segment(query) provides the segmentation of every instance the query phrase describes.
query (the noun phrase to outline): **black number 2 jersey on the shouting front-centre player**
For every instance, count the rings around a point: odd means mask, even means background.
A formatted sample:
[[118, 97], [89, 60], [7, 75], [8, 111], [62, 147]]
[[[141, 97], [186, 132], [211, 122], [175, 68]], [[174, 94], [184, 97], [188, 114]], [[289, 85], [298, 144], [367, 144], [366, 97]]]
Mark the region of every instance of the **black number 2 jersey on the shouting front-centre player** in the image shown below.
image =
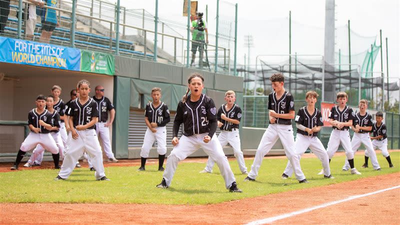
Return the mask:
[[187, 96], [186, 102], [180, 101], [176, 108], [172, 129], [173, 137], [177, 137], [181, 123], [183, 123], [182, 133], [184, 136], [208, 133], [208, 136], [212, 138], [216, 131], [217, 123], [214, 101], [210, 97], [201, 94], [198, 101], [191, 102], [190, 95]]

